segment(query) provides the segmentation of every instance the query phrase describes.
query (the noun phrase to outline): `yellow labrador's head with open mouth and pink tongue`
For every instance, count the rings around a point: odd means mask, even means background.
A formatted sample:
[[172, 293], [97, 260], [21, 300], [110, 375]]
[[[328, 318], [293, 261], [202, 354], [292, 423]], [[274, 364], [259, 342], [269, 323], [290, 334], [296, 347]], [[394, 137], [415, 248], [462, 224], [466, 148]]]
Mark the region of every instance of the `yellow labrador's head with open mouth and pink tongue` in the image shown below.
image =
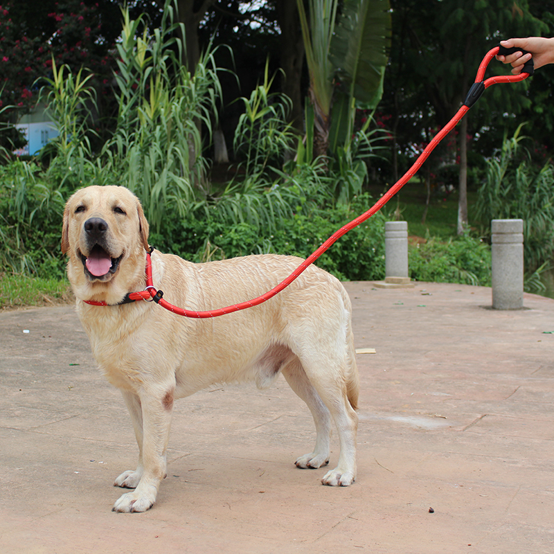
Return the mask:
[[122, 186], [78, 190], [64, 211], [62, 252], [80, 300], [115, 304], [144, 288], [148, 222], [139, 199]]

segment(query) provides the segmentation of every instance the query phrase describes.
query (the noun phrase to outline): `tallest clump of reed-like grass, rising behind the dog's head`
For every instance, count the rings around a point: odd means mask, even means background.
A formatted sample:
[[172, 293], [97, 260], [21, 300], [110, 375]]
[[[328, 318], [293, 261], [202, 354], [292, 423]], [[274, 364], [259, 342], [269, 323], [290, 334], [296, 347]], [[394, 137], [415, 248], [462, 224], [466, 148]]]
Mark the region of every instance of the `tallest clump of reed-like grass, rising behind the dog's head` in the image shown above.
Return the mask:
[[211, 139], [222, 90], [210, 48], [194, 75], [182, 64], [179, 31], [184, 36], [184, 30], [173, 22], [170, 1], [151, 36], [140, 18], [131, 20], [127, 8], [122, 12], [118, 124], [102, 150], [102, 163], [141, 198], [152, 228], [159, 231], [168, 213], [185, 217], [202, 192], [203, 139]]

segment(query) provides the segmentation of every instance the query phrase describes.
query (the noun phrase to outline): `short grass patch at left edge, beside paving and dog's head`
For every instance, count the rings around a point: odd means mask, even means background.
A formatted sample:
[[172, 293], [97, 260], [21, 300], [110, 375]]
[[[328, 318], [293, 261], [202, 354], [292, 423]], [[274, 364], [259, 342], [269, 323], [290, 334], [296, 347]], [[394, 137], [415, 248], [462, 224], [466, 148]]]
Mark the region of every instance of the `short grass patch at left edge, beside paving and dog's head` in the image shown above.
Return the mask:
[[24, 275], [0, 276], [0, 310], [26, 306], [53, 306], [73, 299], [69, 281]]

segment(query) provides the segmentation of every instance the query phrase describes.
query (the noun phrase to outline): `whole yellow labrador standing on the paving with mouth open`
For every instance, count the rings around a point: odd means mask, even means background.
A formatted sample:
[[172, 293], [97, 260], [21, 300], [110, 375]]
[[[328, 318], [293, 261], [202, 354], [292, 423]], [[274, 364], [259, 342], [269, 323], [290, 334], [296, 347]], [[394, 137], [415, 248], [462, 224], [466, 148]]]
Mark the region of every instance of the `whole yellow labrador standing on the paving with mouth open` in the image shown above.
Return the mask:
[[[127, 293], [145, 288], [147, 249], [148, 222], [127, 188], [89, 186], [67, 202], [62, 251], [69, 256], [77, 312], [96, 361], [123, 394], [139, 443], [136, 470], [114, 483], [134, 491], [123, 494], [114, 511], [144, 512], [156, 501], [176, 398], [222, 382], [253, 380], [266, 388], [279, 373], [306, 402], [316, 426], [314, 451], [296, 465], [328, 464], [334, 420], [341, 452], [322, 482], [352, 484], [359, 379], [350, 301], [341, 283], [312, 265], [261, 305], [187, 319], [154, 302], [120, 304]], [[300, 262], [264, 255], [193, 264], [154, 250], [153, 283], [174, 305], [214, 310], [267, 292]]]

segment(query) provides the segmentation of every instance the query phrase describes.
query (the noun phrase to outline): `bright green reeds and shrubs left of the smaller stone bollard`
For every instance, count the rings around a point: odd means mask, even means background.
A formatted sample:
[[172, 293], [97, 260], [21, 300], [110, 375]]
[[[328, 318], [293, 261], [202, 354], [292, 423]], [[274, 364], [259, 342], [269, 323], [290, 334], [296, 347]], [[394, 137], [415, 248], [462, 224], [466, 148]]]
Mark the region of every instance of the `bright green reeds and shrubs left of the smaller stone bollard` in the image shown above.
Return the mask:
[[[207, 181], [202, 145], [221, 96], [219, 71], [209, 50], [195, 75], [179, 62], [169, 6], [153, 36], [141, 19], [123, 12], [116, 75], [120, 113], [114, 136], [100, 152], [90, 141], [95, 99], [89, 77], [53, 64], [43, 93], [60, 132], [48, 146], [50, 163], [15, 161], [0, 169], [2, 271], [62, 276], [64, 201], [87, 184], [129, 186], [143, 202], [152, 244], [195, 261], [270, 251], [305, 258], [368, 208], [367, 195], [336, 202], [343, 181], [340, 174], [323, 172], [321, 160], [284, 163], [297, 139], [286, 123], [286, 101], [269, 93], [267, 72], [250, 98], [242, 99], [244, 116], [235, 134], [244, 160], [240, 179], [222, 190]], [[370, 148], [363, 152], [373, 155]], [[364, 163], [356, 156], [350, 162]], [[359, 226], [319, 265], [341, 278], [382, 277], [383, 221], [377, 215]]]

